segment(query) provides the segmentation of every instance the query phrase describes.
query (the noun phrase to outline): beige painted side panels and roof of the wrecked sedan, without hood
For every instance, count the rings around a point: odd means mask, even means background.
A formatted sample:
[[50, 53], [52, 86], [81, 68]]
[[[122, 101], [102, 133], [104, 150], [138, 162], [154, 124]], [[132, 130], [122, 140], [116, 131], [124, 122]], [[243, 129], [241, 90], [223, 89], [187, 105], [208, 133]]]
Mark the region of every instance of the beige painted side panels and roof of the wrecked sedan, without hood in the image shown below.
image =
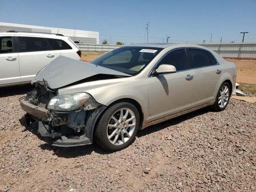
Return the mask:
[[[87, 92], [97, 102], [106, 106], [116, 100], [133, 99], [140, 104], [144, 116], [143, 124], [147, 124], [185, 110], [190, 112], [191, 108], [200, 108], [202, 104], [204, 104], [203, 106], [212, 104], [218, 88], [225, 80], [232, 82], [232, 90], [234, 90], [236, 66], [208, 48], [190, 44], [137, 44], [131, 46], [164, 47], [164, 50], [136, 76], [76, 84], [59, 89], [58, 94]], [[164, 74], [158, 77], [150, 76], [158, 60], [170, 50], [177, 48], [208, 50], [218, 60], [218, 65]], [[217, 69], [222, 71], [221, 74], [216, 74]], [[185, 80], [188, 74], [194, 75], [190, 81]], [[205, 76], [207, 79], [204, 78]]]

